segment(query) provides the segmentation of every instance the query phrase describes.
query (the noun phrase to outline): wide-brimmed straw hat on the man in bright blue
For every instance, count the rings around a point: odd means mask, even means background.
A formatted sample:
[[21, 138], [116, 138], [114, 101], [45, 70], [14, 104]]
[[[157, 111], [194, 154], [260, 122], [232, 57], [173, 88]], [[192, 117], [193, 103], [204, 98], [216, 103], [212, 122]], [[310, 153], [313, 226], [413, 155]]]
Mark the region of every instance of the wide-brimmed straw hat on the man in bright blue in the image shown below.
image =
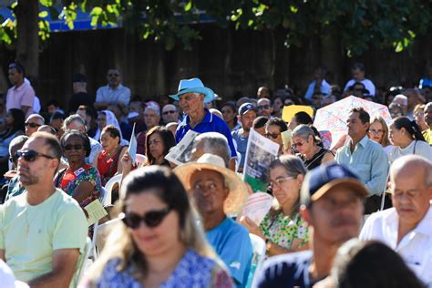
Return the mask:
[[225, 168], [225, 162], [221, 157], [206, 153], [197, 162], [182, 164], [174, 173], [183, 183], [184, 188], [190, 191], [190, 177], [197, 170], [213, 170], [221, 173], [228, 185], [228, 197], [223, 203], [223, 211], [227, 215], [237, 215], [248, 199], [248, 189], [242, 179], [233, 171]]

